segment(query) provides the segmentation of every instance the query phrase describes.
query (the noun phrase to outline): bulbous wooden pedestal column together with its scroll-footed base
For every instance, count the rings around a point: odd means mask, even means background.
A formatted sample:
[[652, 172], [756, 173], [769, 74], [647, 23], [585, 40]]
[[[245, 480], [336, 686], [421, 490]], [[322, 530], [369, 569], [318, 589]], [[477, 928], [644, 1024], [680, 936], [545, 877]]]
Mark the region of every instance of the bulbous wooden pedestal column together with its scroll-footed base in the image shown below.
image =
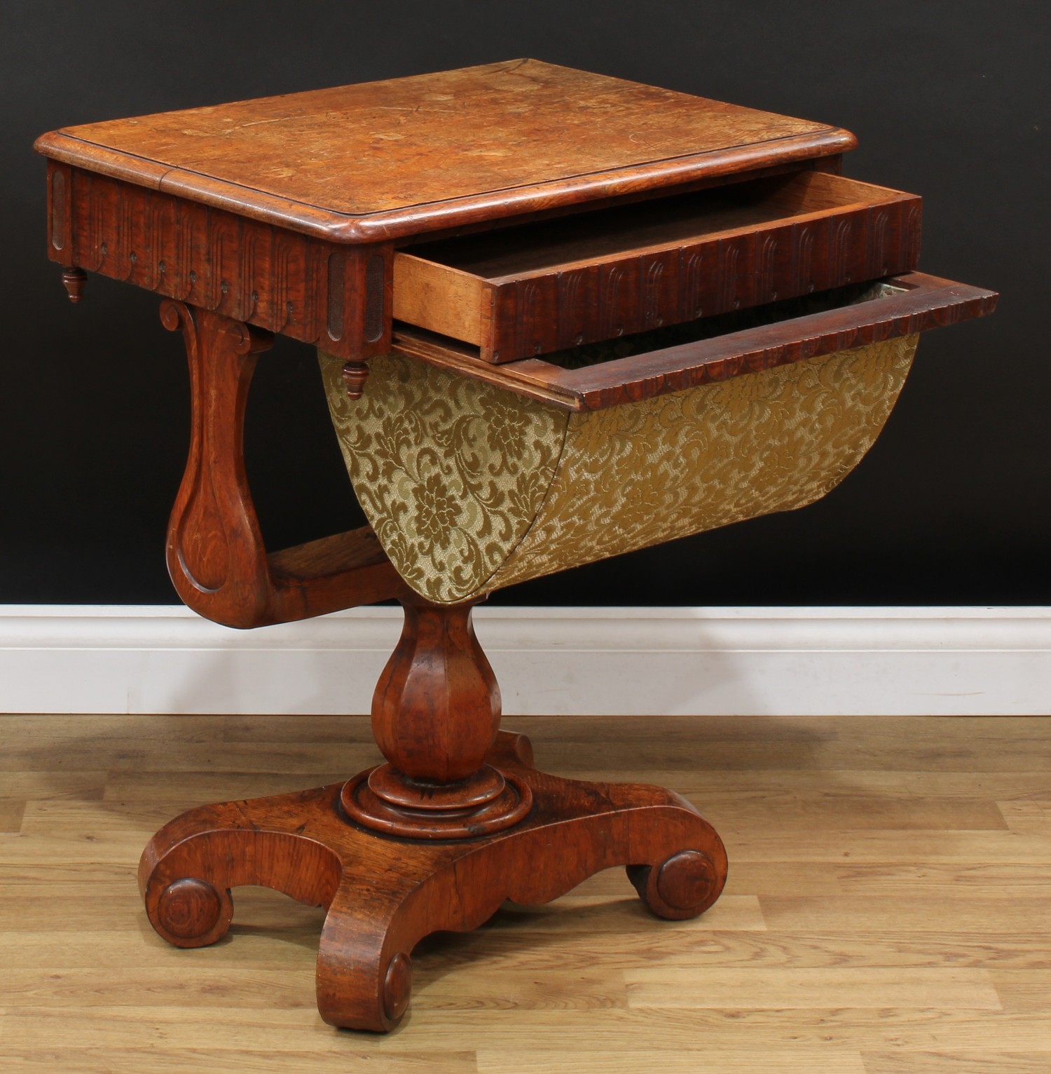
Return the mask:
[[696, 916], [722, 890], [722, 842], [684, 799], [548, 775], [524, 736], [496, 730], [499, 692], [469, 607], [407, 605], [373, 714], [386, 765], [344, 784], [191, 810], [157, 833], [140, 884], [160, 935], [179, 947], [214, 943], [240, 884], [325, 906], [321, 1015], [384, 1031], [408, 1005], [415, 944], [477, 928], [506, 899], [549, 902], [618, 865], [660, 917]]

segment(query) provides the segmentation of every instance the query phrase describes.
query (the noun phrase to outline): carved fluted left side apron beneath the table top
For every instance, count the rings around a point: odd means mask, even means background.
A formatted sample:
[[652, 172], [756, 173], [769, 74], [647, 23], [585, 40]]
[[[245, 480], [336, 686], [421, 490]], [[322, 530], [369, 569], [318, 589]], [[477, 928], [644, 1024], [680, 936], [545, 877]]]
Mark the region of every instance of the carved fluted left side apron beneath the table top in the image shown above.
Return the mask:
[[52, 260], [341, 358], [390, 350], [392, 248], [334, 246], [54, 161], [48, 174]]

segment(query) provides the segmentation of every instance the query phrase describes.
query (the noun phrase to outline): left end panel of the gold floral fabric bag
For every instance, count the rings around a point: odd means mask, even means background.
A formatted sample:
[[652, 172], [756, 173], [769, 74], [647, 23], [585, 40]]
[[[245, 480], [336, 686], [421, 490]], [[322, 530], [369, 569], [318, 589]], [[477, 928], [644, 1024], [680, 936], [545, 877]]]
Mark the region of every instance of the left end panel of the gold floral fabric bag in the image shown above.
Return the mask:
[[568, 415], [398, 354], [369, 360], [354, 402], [342, 362], [320, 358], [350, 479], [391, 562], [436, 603], [479, 592], [536, 518]]

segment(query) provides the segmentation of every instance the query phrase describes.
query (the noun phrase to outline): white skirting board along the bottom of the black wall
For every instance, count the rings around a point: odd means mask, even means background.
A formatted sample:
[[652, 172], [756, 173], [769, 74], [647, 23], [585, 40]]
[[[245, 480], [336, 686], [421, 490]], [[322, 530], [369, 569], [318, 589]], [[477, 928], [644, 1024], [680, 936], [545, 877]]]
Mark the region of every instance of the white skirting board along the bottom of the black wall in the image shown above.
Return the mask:
[[[0, 712], [367, 713], [399, 608], [231, 630], [176, 606], [0, 606]], [[475, 612], [513, 715], [1036, 715], [1051, 608]]]

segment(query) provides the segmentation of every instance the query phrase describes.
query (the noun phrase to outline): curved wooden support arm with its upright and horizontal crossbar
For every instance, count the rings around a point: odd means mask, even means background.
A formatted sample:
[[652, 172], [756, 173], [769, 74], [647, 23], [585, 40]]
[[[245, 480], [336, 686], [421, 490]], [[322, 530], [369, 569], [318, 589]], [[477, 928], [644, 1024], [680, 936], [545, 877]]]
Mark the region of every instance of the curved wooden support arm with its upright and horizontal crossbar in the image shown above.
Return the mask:
[[367, 527], [268, 555], [245, 470], [248, 388], [268, 332], [174, 300], [161, 321], [183, 330], [192, 417], [186, 473], [167, 529], [181, 599], [225, 626], [321, 615], [408, 592]]

